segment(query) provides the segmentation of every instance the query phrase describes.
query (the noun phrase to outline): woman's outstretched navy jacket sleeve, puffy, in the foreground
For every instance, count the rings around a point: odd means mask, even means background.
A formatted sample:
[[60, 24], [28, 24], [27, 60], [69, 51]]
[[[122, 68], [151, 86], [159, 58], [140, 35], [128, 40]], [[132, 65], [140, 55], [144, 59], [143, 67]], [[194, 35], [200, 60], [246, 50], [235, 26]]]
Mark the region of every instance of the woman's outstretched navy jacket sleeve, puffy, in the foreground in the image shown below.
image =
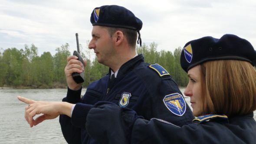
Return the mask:
[[221, 144], [235, 141], [223, 124], [170, 122], [138, 116], [129, 108], [101, 104], [89, 111], [86, 130], [102, 144]]

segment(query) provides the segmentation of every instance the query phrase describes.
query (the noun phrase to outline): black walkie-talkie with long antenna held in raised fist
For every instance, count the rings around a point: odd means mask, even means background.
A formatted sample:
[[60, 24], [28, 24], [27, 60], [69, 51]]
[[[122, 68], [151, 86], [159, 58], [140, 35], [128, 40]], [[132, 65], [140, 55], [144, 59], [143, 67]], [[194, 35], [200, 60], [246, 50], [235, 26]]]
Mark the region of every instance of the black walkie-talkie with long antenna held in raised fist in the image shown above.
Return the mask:
[[[78, 41], [78, 33], [75, 33], [75, 37], [76, 37], [76, 45], [77, 45], [77, 51], [74, 51], [74, 53], [73, 53], [73, 56], [77, 56], [78, 57], [78, 60], [80, 61], [80, 62], [82, 62], [82, 64], [83, 64], [83, 68], [84, 68], [84, 61], [83, 61], [83, 59], [82, 59], [82, 57], [80, 56], [80, 49], [79, 49], [79, 41]], [[74, 73], [72, 73], [72, 77], [73, 77], [73, 79], [74, 79], [74, 81], [76, 82], [76, 83], [82, 83], [82, 82], [84, 82], [85, 80], [84, 80], [84, 77], [85, 77], [85, 72], [83, 71], [82, 73], [78, 73], [78, 72], [74, 72]]]

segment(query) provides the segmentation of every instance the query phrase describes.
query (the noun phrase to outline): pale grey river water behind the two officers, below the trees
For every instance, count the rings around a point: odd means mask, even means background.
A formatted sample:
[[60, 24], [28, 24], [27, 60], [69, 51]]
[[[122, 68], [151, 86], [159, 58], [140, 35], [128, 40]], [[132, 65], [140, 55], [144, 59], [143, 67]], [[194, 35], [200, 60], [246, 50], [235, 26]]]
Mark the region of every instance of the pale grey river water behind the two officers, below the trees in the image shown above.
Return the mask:
[[[66, 144], [59, 117], [30, 128], [24, 118], [26, 104], [17, 99], [20, 95], [39, 101], [61, 101], [66, 92], [66, 89], [0, 89], [0, 144]], [[185, 100], [190, 105], [190, 98]]]

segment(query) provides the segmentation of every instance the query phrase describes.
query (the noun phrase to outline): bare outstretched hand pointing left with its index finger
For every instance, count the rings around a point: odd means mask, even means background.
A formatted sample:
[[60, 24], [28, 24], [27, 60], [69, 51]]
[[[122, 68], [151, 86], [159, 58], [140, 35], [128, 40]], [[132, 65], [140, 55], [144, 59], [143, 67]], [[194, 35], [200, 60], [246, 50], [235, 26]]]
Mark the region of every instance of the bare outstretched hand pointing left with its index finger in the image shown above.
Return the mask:
[[[52, 102], [52, 101], [34, 101], [32, 99], [17, 97], [20, 101], [28, 104], [25, 107], [25, 119], [30, 124], [30, 127], [41, 123], [44, 120], [57, 118], [59, 115], [68, 115], [71, 117], [71, 109], [73, 104], [67, 102]], [[35, 115], [43, 114], [37, 117]]]

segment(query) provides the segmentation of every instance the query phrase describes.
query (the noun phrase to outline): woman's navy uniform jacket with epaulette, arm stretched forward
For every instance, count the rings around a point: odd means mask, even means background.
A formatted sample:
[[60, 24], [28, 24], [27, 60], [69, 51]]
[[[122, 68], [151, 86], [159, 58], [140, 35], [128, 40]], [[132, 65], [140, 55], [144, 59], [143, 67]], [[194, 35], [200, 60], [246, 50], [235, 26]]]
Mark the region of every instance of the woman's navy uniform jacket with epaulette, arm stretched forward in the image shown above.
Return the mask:
[[253, 113], [227, 118], [204, 115], [182, 127], [161, 119], [150, 121], [115, 104], [98, 103], [87, 115], [86, 129], [102, 144], [255, 144]]

